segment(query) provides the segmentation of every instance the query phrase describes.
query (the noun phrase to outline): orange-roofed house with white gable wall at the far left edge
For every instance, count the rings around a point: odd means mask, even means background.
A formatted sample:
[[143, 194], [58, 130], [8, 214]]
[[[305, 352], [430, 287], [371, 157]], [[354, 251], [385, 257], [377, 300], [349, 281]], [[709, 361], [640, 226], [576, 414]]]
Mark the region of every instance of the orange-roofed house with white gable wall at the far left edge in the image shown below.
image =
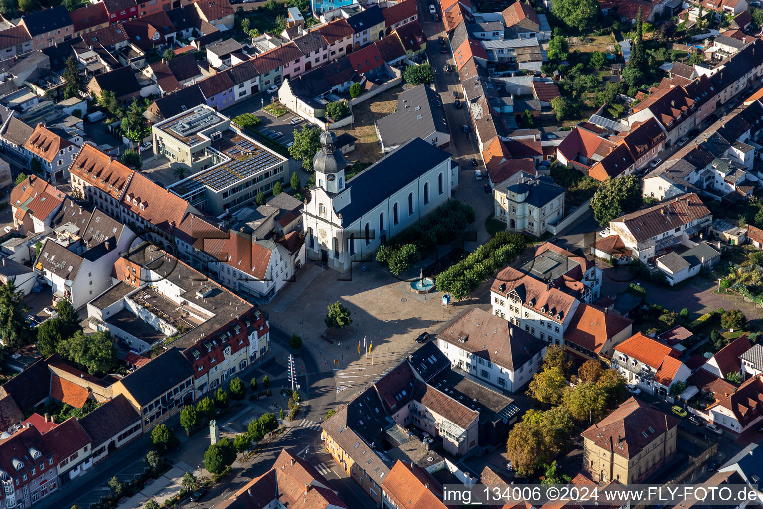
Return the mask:
[[31, 175], [11, 191], [13, 225], [22, 235], [41, 234], [50, 227], [66, 195]]

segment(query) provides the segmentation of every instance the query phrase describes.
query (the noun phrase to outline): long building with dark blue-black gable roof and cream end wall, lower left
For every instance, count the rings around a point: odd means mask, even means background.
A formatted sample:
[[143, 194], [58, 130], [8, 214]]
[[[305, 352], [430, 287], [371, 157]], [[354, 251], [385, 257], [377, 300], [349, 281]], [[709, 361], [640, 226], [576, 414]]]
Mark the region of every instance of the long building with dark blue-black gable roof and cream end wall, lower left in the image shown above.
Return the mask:
[[111, 385], [114, 397], [124, 395], [140, 414], [148, 433], [194, 401], [193, 370], [181, 350], [170, 346], [162, 355]]

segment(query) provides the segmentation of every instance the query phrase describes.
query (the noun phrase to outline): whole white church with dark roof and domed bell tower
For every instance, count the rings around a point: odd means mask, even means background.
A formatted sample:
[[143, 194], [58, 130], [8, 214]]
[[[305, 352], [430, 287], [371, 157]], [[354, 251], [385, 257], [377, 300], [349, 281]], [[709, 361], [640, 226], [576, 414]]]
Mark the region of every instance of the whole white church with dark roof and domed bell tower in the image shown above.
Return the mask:
[[320, 136], [315, 155], [316, 186], [302, 209], [308, 258], [339, 272], [367, 261], [387, 240], [450, 198], [459, 166], [450, 154], [420, 138], [407, 141], [345, 179], [346, 159], [336, 134]]

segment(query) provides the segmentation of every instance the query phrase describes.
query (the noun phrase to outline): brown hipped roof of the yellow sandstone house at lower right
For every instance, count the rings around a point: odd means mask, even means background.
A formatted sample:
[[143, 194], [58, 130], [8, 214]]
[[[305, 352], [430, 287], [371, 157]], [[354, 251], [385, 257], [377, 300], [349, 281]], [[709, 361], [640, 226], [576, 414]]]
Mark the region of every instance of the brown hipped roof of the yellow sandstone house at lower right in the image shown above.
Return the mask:
[[678, 419], [650, 408], [645, 401], [630, 398], [581, 435], [618, 456], [633, 458], [677, 425]]

